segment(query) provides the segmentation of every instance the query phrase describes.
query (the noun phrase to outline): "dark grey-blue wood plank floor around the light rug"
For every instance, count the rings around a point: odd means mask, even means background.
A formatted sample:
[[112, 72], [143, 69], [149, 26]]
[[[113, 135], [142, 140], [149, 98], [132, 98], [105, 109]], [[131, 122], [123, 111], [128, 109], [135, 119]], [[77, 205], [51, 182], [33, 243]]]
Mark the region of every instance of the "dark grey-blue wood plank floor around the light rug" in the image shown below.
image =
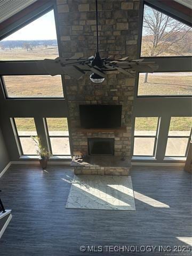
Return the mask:
[[[64, 166], [42, 171], [38, 166], [12, 165], [6, 171], [0, 179], [1, 197], [13, 218], [0, 239], [1, 256], [94, 255], [80, 252], [81, 245], [188, 245], [191, 175], [181, 167], [134, 166], [135, 212], [66, 209], [73, 175]], [[106, 250], [100, 254], [191, 255]]]

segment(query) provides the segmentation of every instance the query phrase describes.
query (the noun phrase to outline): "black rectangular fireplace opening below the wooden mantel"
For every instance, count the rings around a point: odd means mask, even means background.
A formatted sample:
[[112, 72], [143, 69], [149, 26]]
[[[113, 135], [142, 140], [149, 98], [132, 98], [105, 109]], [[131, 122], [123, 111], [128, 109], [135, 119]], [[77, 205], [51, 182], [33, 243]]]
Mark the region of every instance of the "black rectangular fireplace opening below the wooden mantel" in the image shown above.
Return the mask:
[[113, 138], [88, 138], [89, 155], [114, 155]]

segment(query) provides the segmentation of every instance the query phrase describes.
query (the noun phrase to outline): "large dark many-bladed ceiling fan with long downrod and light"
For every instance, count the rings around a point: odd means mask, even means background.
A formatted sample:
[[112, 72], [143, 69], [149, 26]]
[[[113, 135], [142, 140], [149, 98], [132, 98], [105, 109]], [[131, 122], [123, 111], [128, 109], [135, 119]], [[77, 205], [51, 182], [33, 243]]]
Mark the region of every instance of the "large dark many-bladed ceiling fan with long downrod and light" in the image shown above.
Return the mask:
[[66, 59], [58, 57], [54, 60], [44, 59], [37, 62], [37, 66], [46, 70], [51, 76], [66, 74], [72, 78], [79, 79], [85, 73], [92, 72], [90, 79], [94, 83], [101, 83], [105, 80], [108, 71], [117, 70], [125, 75], [134, 77], [132, 72], [139, 71], [153, 73], [158, 65], [152, 61], [143, 61], [144, 59], [129, 60], [125, 57], [119, 60], [110, 57], [101, 58], [99, 54], [99, 37], [98, 37], [98, 1], [95, 0], [96, 7], [96, 32], [97, 32], [97, 52], [95, 56], [89, 58], [71, 58]]

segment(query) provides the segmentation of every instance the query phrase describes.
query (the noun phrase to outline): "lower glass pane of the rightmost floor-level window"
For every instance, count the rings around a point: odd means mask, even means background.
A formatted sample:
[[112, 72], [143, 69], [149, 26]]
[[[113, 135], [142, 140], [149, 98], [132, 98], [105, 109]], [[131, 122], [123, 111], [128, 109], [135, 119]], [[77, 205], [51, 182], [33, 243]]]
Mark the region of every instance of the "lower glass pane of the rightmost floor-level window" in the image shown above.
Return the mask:
[[165, 156], [185, 156], [188, 138], [168, 138]]

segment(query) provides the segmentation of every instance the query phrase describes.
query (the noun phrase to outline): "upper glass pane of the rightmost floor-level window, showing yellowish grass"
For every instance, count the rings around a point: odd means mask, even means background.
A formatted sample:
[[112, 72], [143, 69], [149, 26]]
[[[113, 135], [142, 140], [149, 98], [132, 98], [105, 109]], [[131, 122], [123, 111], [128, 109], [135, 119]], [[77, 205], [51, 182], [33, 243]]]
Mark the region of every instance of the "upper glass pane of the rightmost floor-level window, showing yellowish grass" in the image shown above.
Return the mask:
[[171, 117], [169, 136], [189, 136], [192, 117]]

